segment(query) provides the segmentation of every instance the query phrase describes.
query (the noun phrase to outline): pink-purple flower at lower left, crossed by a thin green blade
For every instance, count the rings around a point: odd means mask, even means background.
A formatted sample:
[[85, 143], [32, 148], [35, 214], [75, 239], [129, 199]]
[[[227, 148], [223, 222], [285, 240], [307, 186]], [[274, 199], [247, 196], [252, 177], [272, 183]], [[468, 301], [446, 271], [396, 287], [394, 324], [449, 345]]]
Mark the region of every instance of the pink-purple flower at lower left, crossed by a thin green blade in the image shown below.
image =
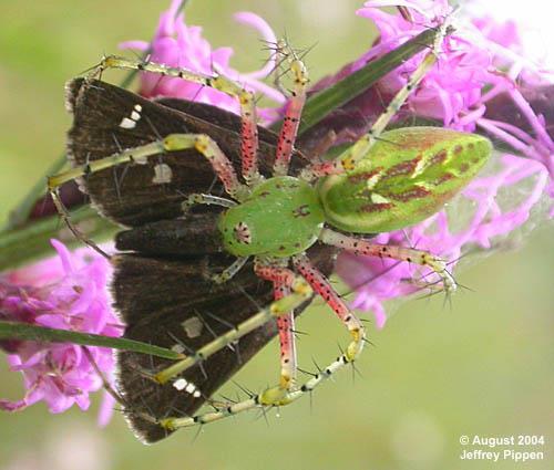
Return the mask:
[[[58, 258], [0, 276], [0, 318], [75, 332], [121, 336], [123, 327], [111, 310], [106, 284], [110, 263], [81, 249], [71, 253], [52, 240]], [[44, 400], [51, 412], [76, 404], [85, 410], [89, 394], [102, 388], [90, 358], [113, 379], [112, 351], [68, 343], [0, 342], [11, 370], [21, 372], [27, 389], [18, 401], [0, 400], [0, 409], [14, 411]], [[105, 395], [109, 397], [109, 395]], [[104, 404], [100, 421], [105, 424], [113, 401]]]

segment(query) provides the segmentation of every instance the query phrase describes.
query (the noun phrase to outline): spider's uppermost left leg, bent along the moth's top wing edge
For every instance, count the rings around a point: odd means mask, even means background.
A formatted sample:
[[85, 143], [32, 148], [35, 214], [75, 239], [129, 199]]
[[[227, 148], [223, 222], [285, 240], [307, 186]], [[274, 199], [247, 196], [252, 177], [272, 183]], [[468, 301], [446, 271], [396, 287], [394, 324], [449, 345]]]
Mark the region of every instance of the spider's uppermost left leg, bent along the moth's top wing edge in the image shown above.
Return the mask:
[[91, 73], [91, 77], [101, 75], [106, 69], [137, 70], [142, 72], [156, 73], [162, 76], [183, 79], [199, 85], [209, 86], [237, 98], [240, 104], [242, 117], [242, 174], [248, 186], [255, 186], [260, 181], [261, 176], [258, 171], [257, 155], [258, 128], [256, 119], [256, 103], [253, 92], [245, 90], [245, 87], [239, 83], [226, 79], [223, 75], [204, 75], [186, 69], [170, 67], [164, 64], [156, 64], [152, 62], [132, 61], [115, 55], [103, 58], [101, 63], [94, 67]]

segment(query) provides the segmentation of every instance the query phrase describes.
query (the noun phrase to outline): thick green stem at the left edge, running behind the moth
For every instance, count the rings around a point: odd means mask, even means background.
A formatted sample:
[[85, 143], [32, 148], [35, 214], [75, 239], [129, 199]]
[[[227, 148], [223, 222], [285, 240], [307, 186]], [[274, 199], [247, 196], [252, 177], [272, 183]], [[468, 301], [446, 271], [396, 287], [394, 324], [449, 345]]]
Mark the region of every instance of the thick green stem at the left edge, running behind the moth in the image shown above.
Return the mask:
[[[117, 231], [117, 227], [100, 217], [90, 207], [74, 211], [71, 220], [93, 240], [106, 240]], [[61, 239], [70, 247], [82, 246], [61, 222], [58, 215], [31, 221], [27, 226], [0, 232], [0, 272], [28, 264], [53, 254], [48, 242], [51, 238]]]

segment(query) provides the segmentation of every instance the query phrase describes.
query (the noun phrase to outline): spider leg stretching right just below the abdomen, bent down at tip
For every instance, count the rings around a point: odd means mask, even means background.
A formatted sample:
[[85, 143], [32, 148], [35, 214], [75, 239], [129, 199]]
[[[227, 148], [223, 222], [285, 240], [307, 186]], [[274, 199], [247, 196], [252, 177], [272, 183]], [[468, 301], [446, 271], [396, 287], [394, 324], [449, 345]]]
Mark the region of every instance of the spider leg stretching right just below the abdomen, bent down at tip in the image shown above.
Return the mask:
[[327, 228], [321, 230], [319, 240], [326, 244], [350, 251], [356, 255], [390, 258], [392, 260], [428, 267], [441, 278], [447, 293], [452, 293], [456, 289], [454, 278], [447, 270], [445, 261], [428, 251], [392, 244], [370, 243], [363, 239], [348, 237]]

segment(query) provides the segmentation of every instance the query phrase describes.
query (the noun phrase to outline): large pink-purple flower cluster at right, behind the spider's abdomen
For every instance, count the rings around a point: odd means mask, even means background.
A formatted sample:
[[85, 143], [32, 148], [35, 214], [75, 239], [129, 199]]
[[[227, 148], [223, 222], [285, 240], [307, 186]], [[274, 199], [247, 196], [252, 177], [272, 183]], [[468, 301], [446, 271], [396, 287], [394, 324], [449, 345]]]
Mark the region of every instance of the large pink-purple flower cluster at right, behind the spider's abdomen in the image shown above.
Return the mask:
[[[377, 7], [403, 7], [412, 21]], [[378, 55], [397, 48], [437, 25], [450, 13], [447, 1], [368, 1], [357, 12], [371, 19], [380, 31], [378, 43], [348, 66], [351, 73]], [[466, 132], [481, 130], [507, 144], [519, 154], [496, 156], [483, 176], [473, 180], [448, 208], [407, 230], [382, 233], [376, 241], [414, 246], [451, 261], [470, 249], [490, 250], [517, 229], [532, 226], [532, 212], [541, 210], [544, 194], [553, 195], [554, 143], [545, 117], [537, 115], [525, 100], [525, 90], [537, 90], [550, 82], [540, 65], [525, 59], [513, 22], [496, 24], [490, 18], [473, 20], [449, 36], [438, 64], [410, 96], [407, 108], [417, 116], [438, 119], [445, 127]], [[378, 84], [392, 96], [403, 86], [421, 61], [421, 54], [389, 73]], [[346, 70], [346, 69], [345, 69]], [[343, 73], [345, 71], [342, 71]], [[504, 98], [504, 109], [495, 107]], [[521, 126], [510, 123], [514, 115]], [[506, 197], [505, 195], [510, 196]], [[420, 291], [423, 283], [437, 281], [425, 270], [342, 253], [337, 263], [339, 275], [356, 291], [355, 307], [371, 310], [381, 327], [386, 321], [383, 302]]]

